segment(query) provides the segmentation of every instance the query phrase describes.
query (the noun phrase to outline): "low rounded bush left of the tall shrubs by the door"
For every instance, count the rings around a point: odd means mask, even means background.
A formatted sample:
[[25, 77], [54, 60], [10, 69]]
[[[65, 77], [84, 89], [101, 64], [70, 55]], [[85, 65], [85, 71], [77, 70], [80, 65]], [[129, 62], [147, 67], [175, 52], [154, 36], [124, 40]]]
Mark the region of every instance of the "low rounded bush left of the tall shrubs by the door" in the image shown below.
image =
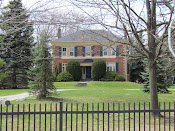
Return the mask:
[[69, 72], [62, 72], [57, 76], [57, 81], [73, 81], [73, 77]]

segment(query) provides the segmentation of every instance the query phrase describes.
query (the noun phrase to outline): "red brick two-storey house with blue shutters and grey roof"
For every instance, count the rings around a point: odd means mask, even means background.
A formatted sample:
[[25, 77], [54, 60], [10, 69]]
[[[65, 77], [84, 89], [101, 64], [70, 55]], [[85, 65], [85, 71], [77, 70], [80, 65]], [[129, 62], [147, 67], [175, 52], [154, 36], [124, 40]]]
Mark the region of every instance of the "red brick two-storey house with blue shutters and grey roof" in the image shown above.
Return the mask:
[[58, 39], [51, 42], [54, 47], [54, 65], [58, 72], [66, 71], [66, 63], [76, 59], [80, 62], [82, 79], [91, 78], [91, 66], [96, 59], [106, 61], [107, 71], [116, 71], [129, 80], [126, 40], [120, 40], [114, 34], [105, 30], [77, 31], [61, 37], [58, 29]]

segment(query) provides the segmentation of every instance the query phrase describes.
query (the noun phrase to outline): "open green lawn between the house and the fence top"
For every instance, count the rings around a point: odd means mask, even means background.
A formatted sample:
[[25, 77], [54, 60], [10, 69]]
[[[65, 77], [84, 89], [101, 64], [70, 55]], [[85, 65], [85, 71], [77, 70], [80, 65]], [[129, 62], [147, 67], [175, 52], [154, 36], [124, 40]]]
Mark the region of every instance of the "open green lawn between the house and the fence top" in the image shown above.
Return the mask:
[[[71, 91], [58, 92], [59, 96], [64, 102], [68, 103], [138, 103], [149, 102], [149, 93], [141, 91], [142, 85], [132, 82], [88, 82], [87, 86], [78, 87], [75, 86], [77, 82], [56, 82], [55, 87], [57, 89], [77, 89]], [[128, 90], [138, 89], [138, 90]], [[170, 89], [175, 89], [172, 86]], [[18, 90], [0, 90], [0, 96], [19, 94], [29, 91], [28, 89]], [[174, 102], [175, 91], [171, 91], [170, 94], [159, 94], [159, 102]], [[34, 97], [29, 97], [24, 103], [38, 103], [40, 101], [33, 100]], [[43, 101], [42, 101], [43, 102]], [[48, 102], [49, 101], [45, 101]], [[16, 103], [14, 101], [14, 103]], [[19, 103], [19, 102], [17, 102]], [[22, 101], [20, 103], [23, 103]]]

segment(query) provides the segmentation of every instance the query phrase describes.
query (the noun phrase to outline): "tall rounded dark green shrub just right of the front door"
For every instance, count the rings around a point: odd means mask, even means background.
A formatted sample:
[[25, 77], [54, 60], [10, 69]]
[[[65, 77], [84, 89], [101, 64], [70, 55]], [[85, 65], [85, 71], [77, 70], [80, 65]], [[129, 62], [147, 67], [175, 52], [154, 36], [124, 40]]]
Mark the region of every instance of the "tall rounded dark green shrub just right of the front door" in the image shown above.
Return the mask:
[[106, 73], [106, 62], [104, 60], [96, 60], [92, 63], [92, 79], [100, 80]]

